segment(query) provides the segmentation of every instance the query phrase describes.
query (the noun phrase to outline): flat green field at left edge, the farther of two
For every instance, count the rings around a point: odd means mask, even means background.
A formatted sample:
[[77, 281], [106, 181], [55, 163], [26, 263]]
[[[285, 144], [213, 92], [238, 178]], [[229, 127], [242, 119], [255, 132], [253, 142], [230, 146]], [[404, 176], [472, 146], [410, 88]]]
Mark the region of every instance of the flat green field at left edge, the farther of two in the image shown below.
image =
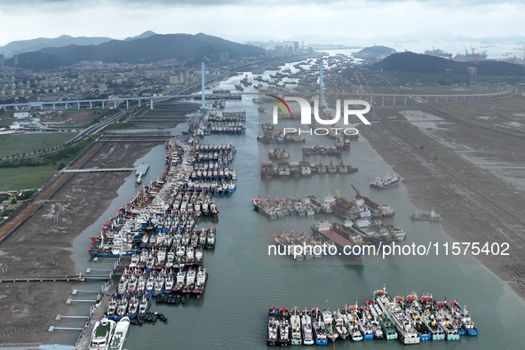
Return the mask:
[[74, 138], [74, 132], [0, 135], [0, 158], [60, 145]]

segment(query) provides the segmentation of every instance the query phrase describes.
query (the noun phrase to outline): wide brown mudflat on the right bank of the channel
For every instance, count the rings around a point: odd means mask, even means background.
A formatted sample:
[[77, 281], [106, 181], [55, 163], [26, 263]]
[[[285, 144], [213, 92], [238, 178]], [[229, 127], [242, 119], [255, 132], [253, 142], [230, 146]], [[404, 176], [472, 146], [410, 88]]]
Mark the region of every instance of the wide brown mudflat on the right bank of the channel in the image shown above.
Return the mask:
[[[406, 113], [408, 108], [403, 109]], [[420, 210], [434, 208], [441, 214], [441, 225], [452, 238], [509, 243], [509, 256], [477, 258], [525, 298], [525, 196], [510, 179], [497, 176], [498, 168], [525, 167], [518, 151], [525, 149], [525, 140], [449, 120], [409, 123], [399, 111], [375, 108], [375, 123], [360, 128], [362, 135], [400, 174], [410, 201]], [[513, 174], [521, 176], [507, 172], [507, 178]]]

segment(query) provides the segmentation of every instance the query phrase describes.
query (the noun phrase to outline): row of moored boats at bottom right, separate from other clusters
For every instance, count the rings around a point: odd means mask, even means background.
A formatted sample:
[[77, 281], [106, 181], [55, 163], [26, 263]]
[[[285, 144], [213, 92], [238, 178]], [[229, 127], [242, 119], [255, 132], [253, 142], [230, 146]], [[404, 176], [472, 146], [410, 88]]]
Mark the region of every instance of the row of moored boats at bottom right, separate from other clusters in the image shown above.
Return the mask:
[[268, 311], [268, 346], [325, 346], [337, 339], [353, 341], [397, 339], [403, 344], [424, 340], [457, 340], [459, 335], [478, 335], [471, 316], [457, 301], [436, 302], [431, 294], [418, 298], [411, 292], [407, 298], [391, 298], [386, 289], [376, 290], [363, 306], [330, 311], [324, 307], [300, 311], [294, 306], [271, 307]]

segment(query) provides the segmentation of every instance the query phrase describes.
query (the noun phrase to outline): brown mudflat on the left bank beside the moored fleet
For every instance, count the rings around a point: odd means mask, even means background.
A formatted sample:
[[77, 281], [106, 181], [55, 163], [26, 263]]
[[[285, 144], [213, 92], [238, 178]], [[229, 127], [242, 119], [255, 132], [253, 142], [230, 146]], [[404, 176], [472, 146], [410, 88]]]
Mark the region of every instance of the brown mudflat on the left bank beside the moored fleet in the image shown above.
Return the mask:
[[[162, 141], [163, 142], [163, 141]], [[77, 167], [121, 168], [159, 142], [95, 143]], [[74, 167], [73, 167], [74, 168]], [[10, 225], [0, 227], [0, 276], [74, 274], [68, 248], [77, 235], [107, 210], [129, 172], [63, 173]], [[35, 285], [35, 283], [38, 283]], [[67, 314], [68, 282], [15, 282], [0, 285], [0, 344], [52, 341], [47, 329], [57, 314]]]

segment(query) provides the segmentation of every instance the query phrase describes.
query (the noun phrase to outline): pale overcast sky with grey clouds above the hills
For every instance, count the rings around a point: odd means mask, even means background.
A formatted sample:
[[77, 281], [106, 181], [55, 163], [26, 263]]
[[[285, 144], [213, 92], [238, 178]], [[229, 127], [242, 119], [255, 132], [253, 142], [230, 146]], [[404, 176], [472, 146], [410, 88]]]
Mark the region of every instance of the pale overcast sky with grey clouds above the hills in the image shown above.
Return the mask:
[[524, 0], [0, 0], [0, 45], [36, 37], [109, 36], [146, 30], [238, 39], [300, 34], [370, 38], [447, 31], [525, 36]]

